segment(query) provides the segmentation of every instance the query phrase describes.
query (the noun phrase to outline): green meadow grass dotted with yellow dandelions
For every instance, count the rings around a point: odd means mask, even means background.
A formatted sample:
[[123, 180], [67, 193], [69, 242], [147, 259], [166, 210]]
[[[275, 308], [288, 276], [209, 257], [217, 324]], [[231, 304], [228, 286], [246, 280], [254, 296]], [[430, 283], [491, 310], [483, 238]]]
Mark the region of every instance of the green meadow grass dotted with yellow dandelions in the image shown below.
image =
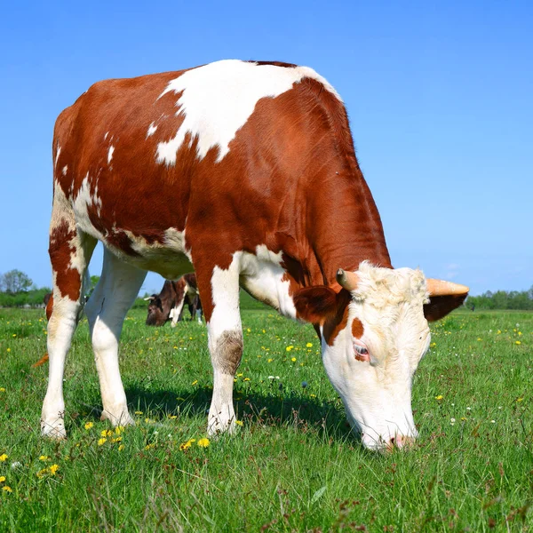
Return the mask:
[[349, 433], [314, 330], [260, 307], [243, 311], [242, 426], [198, 446], [211, 398], [205, 328], [144, 318], [128, 315], [120, 356], [137, 426], [106, 433], [99, 421], [83, 321], [65, 376], [68, 440], [49, 442], [38, 432], [48, 369], [31, 368], [45, 351], [43, 311], [0, 309], [4, 529], [532, 529], [533, 314], [457, 312], [434, 324], [414, 385], [420, 439], [388, 455]]

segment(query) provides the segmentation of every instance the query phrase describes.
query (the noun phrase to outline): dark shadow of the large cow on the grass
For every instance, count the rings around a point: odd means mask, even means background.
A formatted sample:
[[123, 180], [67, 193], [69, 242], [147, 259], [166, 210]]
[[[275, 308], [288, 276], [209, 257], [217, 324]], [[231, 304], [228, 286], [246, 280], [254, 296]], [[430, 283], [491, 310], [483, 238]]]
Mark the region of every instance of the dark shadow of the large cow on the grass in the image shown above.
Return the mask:
[[[212, 390], [207, 387], [187, 391], [147, 391], [131, 386], [126, 388], [128, 403], [134, 410], [149, 412], [151, 416], [165, 418], [179, 415], [180, 418], [204, 417], [211, 403]], [[314, 430], [326, 434], [334, 441], [350, 439], [358, 442], [351, 434], [344, 410], [339, 412], [335, 405], [321, 402], [315, 398], [287, 393], [256, 394], [235, 391], [236, 417], [260, 426], [292, 426], [306, 433]]]

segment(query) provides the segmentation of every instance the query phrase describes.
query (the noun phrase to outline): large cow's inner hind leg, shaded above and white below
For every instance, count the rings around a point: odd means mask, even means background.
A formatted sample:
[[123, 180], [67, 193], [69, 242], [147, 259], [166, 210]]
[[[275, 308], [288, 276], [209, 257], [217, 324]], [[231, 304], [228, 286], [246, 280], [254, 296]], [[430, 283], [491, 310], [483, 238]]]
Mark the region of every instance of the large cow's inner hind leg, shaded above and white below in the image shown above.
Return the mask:
[[102, 396], [102, 419], [114, 426], [133, 424], [118, 365], [123, 321], [147, 273], [104, 251], [102, 275], [85, 307]]

